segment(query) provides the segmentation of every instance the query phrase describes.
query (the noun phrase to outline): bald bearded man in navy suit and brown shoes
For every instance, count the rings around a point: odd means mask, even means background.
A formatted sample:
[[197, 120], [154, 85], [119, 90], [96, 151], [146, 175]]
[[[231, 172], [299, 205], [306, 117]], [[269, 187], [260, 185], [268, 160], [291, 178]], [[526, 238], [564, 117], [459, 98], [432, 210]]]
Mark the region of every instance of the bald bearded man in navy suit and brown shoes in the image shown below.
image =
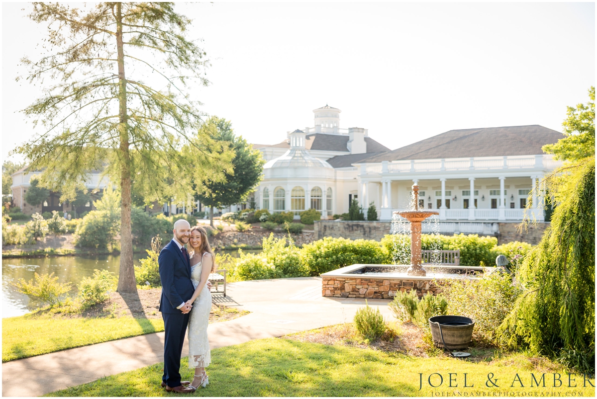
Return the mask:
[[[180, 381], [180, 356], [183, 351], [184, 333], [189, 324], [187, 305], [195, 289], [190, 280], [190, 259], [184, 244], [189, 242], [190, 225], [184, 219], [174, 223], [174, 238], [159, 253], [159, 278], [162, 280], [162, 298], [159, 311], [164, 318], [164, 376], [162, 386], [168, 392], [191, 393], [195, 391]], [[209, 286], [209, 284], [208, 284]]]

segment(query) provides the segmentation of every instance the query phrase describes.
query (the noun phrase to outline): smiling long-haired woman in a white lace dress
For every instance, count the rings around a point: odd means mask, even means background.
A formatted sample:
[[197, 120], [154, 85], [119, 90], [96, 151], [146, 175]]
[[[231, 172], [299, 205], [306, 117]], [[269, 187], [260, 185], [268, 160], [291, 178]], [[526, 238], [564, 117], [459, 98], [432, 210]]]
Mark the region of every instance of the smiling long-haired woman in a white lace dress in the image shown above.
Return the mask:
[[207, 324], [210, 320], [211, 292], [207, 280], [214, 267], [214, 253], [207, 241], [205, 229], [200, 226], [191, 228], [189, 239], [190, 276], [195, 287], [192, 298], [186, 303], [193, 305], [189, 317], [189, 367], [195, 369], [195, 378], [189, 385], [199, 388], [210, 383], [205, 367], [210, 365], [210, 341], [207, 339]]

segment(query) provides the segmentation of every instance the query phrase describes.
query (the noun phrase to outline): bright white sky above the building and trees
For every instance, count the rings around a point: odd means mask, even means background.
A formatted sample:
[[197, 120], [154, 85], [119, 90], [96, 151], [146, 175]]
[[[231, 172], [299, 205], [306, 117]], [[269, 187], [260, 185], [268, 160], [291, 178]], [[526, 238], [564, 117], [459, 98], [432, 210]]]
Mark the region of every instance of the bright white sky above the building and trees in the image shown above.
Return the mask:
[[[14, 82], [45, 28], [2, 4], [2, 157], [33, 137], [19, 110], [38, 87]], [[208, 115], [250, 143], [275, 144], [342, 110], [390, 149], [451, 130], [543, 125], [595, 85], [595, 3], [179, 4], [203, 39]], [[21, 10], [25, 8], [25, 10]]]

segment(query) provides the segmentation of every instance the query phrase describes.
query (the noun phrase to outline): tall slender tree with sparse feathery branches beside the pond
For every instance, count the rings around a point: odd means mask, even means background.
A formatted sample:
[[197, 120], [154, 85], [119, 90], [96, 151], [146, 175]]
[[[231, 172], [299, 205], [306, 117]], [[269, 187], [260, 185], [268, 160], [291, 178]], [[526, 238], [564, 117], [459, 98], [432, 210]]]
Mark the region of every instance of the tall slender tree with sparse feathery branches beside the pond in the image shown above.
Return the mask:
[[[48, 27], [39, 60], [23, 58], [30, 83], [44, 95], [24, 110], [42, 132], [17, 153], [43, 171], [40, 183], [76, 197], [89, 172], [103, 170], [122, 194], [119, 292], [136, 292], [131, 234], [131, 185], [149, 203], [184, 200], [187, 174], [213, 178], [227, 160], [197, 132], [193, 84], [206, 85], [205, 52], [185, 37], [191, 20], [171, 2], [101, 2], [71, 8], [33, 3], [33, 21]], [[20, 79], [17, 78], [17, 80]], [[159, 88], [159, 89], [156, 89]], [[193, 136], [191, 138], [191, 136]], [[181, 151], [183, 143], [193, 151]], [[223, 166], [224, 165], [224, 166]], [[167, 183], [171, 178], [171, 184]]]

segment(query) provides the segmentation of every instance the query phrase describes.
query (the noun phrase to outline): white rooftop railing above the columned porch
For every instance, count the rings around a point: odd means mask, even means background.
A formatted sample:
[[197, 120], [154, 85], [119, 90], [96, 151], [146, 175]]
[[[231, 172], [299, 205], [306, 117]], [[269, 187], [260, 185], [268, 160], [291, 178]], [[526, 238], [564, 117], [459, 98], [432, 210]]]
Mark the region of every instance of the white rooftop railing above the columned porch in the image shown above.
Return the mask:
[[[361, 164], [362, 165], [362, 164]], [[382, 163], [367, 163], [367, 173], [382, 172]], [[500, 156], [456, 158], [450, 160], [423, 159], [399, 160], [387, 163], [387, 172], [433, 172], [433, 171], [464, 171], [476, 170], [504, 170], [504, 169], [555, 169], [562, 165], [561, 161], [553, 160], [551, 155], [538, 156]]]

